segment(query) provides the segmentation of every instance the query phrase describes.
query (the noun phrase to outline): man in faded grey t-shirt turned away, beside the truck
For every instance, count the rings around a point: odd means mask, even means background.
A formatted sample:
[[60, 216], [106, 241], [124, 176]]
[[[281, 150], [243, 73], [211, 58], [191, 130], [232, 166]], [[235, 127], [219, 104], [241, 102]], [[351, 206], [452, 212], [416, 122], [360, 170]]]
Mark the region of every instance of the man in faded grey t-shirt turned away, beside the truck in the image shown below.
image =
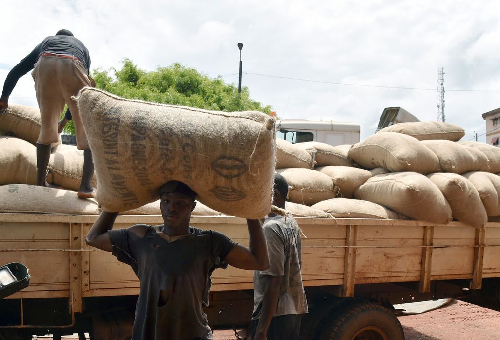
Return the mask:
[[[274, 205], [284, 209], [288, 184], [274, 174]], [[289, 214], [269, 213], [263, 230], [267, 241], [269, 268], [253, 275], [254, 340], [298, 340], [301, 314], [307, 312], [302, 285], [300, 228]]]

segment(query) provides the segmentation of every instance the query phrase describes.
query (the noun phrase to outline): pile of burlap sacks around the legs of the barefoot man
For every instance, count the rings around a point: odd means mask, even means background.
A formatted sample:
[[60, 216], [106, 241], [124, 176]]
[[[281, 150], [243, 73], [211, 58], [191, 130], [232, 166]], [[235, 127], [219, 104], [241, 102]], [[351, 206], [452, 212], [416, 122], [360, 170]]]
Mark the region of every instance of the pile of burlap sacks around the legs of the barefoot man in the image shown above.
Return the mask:
[[[48, 163], [49, 184], [35, 186], [36, 140], [40, 132], [37, 107], [9, 104], [0, 116], [0, 212], [96, 214], [95, 200], [81, 200], [76, 192], [81, 179], [83, 151], [54, 143]], [[95, 184], [95, 178], [94, 178]]]

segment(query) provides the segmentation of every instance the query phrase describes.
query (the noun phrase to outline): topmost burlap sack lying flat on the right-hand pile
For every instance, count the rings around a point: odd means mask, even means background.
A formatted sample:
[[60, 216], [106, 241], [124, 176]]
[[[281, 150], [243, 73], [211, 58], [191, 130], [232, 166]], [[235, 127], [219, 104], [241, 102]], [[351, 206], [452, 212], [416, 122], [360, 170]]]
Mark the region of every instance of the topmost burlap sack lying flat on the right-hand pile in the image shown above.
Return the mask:
[[418, 140], [425, 139], [447, 139], [460, 140], [465, 135], [463, 128], [444, 121], [414, 121], [389, 125], [382, 128], [380, 132], [404, 133]]

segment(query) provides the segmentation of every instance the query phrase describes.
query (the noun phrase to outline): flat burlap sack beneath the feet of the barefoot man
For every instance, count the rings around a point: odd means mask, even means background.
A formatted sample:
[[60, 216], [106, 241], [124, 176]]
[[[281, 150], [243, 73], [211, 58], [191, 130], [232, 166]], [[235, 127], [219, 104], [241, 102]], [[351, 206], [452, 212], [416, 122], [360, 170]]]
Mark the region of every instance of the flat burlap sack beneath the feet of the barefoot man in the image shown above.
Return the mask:
[[75, 191], [30, 184], [0, 186], [0, 212], [97, 215], [93, 199], [80, 199]]

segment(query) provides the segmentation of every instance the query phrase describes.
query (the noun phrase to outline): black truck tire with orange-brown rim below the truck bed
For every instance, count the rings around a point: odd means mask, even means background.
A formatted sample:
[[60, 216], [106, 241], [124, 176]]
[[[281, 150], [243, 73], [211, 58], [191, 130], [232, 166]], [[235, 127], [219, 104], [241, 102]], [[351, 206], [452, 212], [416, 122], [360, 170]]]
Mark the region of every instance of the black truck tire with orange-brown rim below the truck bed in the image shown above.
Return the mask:
[[404, 340], [401, 323], [380, 304], [354, 300], [322, 322], [319, 340]]

